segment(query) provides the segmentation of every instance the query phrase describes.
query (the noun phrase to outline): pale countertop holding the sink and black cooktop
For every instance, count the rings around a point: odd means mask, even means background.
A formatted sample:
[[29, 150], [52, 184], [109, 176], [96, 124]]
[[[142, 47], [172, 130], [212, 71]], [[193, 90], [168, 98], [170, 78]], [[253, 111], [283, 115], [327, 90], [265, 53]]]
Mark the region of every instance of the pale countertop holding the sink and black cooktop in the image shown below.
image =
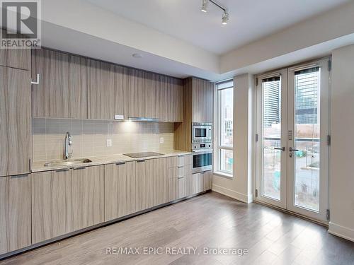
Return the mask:
[[32, 164], [31, 172], [62, 170], [62, 169], [74, 168], [74, 167], [89, 167], [91, 165], [105, 165], [105, 164], [113, 164], [113, 163], [121, 163], [121, 162], [153, 159], [153, 158], [168, 158], [171, 156], [191, 154], [191, 152], [179, 151], [179, 150], [171, 150], [169, 152], [163, 152], [163, 153], [164, 155], [149, 156], [146, 158], [130, 158], [129, 156], [123, 154], [103, 155], [103, 156], [96, 156], [96, 157], [88, 157], [87, 159], [92, 161], [90, 163], [78, 163], [77, 165], [58, 165], [58, 166], [49, 166], [49, 167], [45, 166], [45, 163], [48, 163], [49, 161], [38, 161]]

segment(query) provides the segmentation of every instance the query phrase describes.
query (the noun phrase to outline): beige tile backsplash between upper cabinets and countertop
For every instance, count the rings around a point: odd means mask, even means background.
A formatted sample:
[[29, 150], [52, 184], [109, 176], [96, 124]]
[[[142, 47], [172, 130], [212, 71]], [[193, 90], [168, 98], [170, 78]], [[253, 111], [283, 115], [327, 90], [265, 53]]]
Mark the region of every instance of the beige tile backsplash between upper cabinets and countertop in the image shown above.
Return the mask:
[[62, 159], [67, 131], [72, 134], [72, 158], [173, 149], [173, 123], [34, 118], [34, 161]]

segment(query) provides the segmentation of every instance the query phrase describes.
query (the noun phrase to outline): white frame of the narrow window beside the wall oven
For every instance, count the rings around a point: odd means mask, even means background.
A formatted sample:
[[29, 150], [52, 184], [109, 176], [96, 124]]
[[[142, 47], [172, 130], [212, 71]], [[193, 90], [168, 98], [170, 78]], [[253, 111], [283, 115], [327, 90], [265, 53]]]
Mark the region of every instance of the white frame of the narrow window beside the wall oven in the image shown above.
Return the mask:
[[[227, 86], [225, 88], [218, 88], [219, 84], [222, 83], [229, 83], [232, 82], [232, 86]], [[232, 172], [229, 172], [227, 170], [222, 170], [221, 169], [221, 155], [222, 155], [222, 150], [226, 150], [226, 151], [234, 151], [234, 144], [232, 144], [232, 146], [222, 146], [221, 144], [221, 98], [220, 98], [220, 91], [222, 90], [226, 90], [226, 89], [230, 89], [232, 88], [234, 90], [234, 79], [228, 79], [225, 81], [220, 81], [215, 83], [215, 93], [216, 95], [216, 105], [217, 105], [217, 111], [216, 111], [216, 120], [217, 120], [217, 126], [216, 126], [216, 138], [215, 138], [215, 143], [216, 143], [216, 166], [214, 168], [214, 173], [215, 175], [219, 175], [221, 177], [228, 177], [228, 178], [233, 178], [234, 177], [234, 169], [232, 168]], [[234, 92], [234, 91], [233, 91]], [[234, 99], [232, 99], [233, 105], [232, 105], [232, 111], [234, 112]], [[232, 113], [232, 126], [234, 126], [234, 113]], [[232, 128], [232, 137], [234, 136], [234, 128]], [[232, 154], [232, 156], [234, 157], [234, 154]]]

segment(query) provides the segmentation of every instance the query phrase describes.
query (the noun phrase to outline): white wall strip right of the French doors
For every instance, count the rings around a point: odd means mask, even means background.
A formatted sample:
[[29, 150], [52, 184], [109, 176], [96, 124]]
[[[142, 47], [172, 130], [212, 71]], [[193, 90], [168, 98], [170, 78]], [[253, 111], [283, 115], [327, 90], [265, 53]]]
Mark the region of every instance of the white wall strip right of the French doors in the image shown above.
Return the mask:
[[332, 58], [329, 232], [354, 241], [354, 45]]

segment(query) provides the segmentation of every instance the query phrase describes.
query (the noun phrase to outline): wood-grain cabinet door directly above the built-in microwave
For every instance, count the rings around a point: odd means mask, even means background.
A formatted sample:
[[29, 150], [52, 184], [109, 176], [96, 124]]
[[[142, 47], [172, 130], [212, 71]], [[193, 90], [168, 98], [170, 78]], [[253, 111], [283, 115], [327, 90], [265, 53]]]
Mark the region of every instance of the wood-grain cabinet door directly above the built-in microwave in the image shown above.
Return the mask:
[[212, 122], [214, 106], [214, 83], [193, 78], [192, 122]]

